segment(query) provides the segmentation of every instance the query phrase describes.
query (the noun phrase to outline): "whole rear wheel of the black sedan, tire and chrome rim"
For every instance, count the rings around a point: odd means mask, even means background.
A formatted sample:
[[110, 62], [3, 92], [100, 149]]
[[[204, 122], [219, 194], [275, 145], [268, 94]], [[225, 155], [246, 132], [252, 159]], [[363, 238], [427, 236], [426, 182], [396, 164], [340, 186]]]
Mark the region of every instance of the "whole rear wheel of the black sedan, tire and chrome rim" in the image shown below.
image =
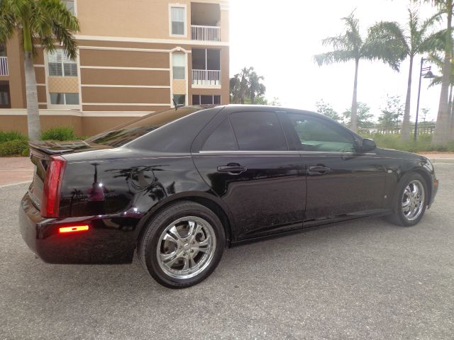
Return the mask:
[[207, 278], [225, 246], [223, 226], [204, 205], [180, 202], [162, 210], [148, 225], [138, 256], [168, 288], [186, 288]]

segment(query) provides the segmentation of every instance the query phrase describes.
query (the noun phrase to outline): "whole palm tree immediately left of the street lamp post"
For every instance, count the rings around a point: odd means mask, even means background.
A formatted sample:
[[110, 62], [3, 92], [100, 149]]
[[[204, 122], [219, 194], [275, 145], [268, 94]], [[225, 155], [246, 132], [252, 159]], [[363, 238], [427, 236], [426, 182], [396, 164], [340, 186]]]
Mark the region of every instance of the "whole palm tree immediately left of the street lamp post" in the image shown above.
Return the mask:
[[406, 86], [404, 120], [402, 122], [403, 140], [410, 139], [411, 76], [413, 74], [414, 57], [432, 51], [436, 42], [439, 41], [429, 33], [429, 29], [438, 17], [437, 14], [420, 23], [418, 13], [409, 9], [407, 28], [402, 28], [399, 23], [389, 21], [376, 23], [375, 26], [370, 28], [370, 34], [374, 36], [373, 40], [377, 44], [377, 48], [382, 48], [386, 53], [391, 52], [387, 51], [389, 49], [399, 49], [400, 51], [397, 54], [402, 55], [402, 59], [409, 57], [409, 78]]

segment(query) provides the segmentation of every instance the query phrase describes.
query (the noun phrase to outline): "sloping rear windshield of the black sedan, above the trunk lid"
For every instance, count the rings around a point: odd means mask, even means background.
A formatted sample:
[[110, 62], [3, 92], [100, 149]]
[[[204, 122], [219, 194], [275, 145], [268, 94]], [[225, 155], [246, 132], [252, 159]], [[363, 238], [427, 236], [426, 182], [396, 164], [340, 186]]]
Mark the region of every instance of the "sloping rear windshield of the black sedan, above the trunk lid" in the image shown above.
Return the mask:
[[121, 145], [131, 142], [132, 140], [135, 140], [135, 138], [145, 135], [145, 133], [199, 111], [200, 109], [201, 107], [192, 106], [178, 108], [177, 110], [175, 110], [175, 108], [171, 108], [170, 110], [151, 113], [150, 115], [145, 115], [145, 117], [139, 118], [138, 120], [134, 120], [132, 123], [120, 125], [112, 130], [90, 137], [86, 140], [86, 142], [109, 145], [111, 147], [121, 147]]

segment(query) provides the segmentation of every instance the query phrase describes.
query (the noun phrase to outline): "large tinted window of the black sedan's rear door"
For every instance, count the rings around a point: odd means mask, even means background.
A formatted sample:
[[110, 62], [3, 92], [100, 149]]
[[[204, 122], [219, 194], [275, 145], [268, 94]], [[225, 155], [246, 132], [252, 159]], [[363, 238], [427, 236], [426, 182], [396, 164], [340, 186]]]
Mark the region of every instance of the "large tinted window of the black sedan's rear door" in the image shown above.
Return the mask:
[[240, 112], [230, 116], [240, 150], [287, 150], [282, 127], [274, 112]]

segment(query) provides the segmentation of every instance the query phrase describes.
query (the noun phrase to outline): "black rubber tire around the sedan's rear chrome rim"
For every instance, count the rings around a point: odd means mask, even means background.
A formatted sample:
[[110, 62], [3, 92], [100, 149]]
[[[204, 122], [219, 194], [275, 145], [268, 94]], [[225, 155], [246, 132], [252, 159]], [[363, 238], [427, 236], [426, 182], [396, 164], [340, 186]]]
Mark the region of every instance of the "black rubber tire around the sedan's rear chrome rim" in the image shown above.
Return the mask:
[[[200, 268], [201, 271], [199, 273], [196, 273], [196, 275], [191, 278], [176, 278], [171, 276], [172, 273], [166, 273], [167, 268], [162, 264], [162, 262], [160, 264], [160, 259], [158, 259], [159, 256], [157, 254], [157, 246], [158, 243], [160, 243], [159, 246], [161, 249], [162, 242], [164, 241], [160, 238], [163, 234], [168, 233], [165, 232], [166, 229], [170, 225], [172, 225], [173, 222], [179, 219], [184, 220], [185, 217], [197, 217], [201, 219], [201, 221], [207, 222], [205, 225], [210, 225], [211, 232], [214, 232], [214, 235], [216, 236], [216, 240], [211, 241], [216, 246], [212, 246], [212, 248], [214, 249], [213, 251], [210, 251], [211, 257], [207, 256], [209, 260], [206, 260], [207, 264], [206, 267], [203, 268], [203, 270], [201, 270], [202, 268]], [[143, 236], [139, 240], [138, 258], [140, 259], [140, 262], [142, 263], [144, 268], [148, 270], [150, 275], [153, 276], [157, 283], [160, 283], [167, 288], [179, 289], [196, 285], [197, 283], [200, 283], [208, 276], [210, 276], [216, 266], [218, 266], [219, 261], [221, 261], [223, 250], [226, 245], [226, 236], [223, 225], [218, 216], [209, 208], [206, 208], [204, 205], [189, 201], [180, 201], [171, 204], [164, 210], [161, 210], [155, 217], [153, 217], [153, 220], [151, 220], [146, 228], [147, 229], [145, 229]], [[204, 236], [204, 231], [201, 232], [201, 235], [202, 237]], [[196, 235], [194, 235], [194, 240], [195, 237]], [[185, 246], [188, 246], [188, 244], [186, 244]], [[179, 251], [178, 249], [179, 247], [177, 248], [177, 246], [175, 246], [175, 251]], [[193, 252], [192, 249], [191, 252]], [[184, 254], [187, 253], [185, 252]], [[201, 256], [204, 256], [204, 253], [201, 253]], [[184, 260], [183, 256], [181, 256], [181, 259]], [[184, 261], [189, 260], [186, 259]], [[169, 271], [171, 270], [172, 269], [169, 269]]]

